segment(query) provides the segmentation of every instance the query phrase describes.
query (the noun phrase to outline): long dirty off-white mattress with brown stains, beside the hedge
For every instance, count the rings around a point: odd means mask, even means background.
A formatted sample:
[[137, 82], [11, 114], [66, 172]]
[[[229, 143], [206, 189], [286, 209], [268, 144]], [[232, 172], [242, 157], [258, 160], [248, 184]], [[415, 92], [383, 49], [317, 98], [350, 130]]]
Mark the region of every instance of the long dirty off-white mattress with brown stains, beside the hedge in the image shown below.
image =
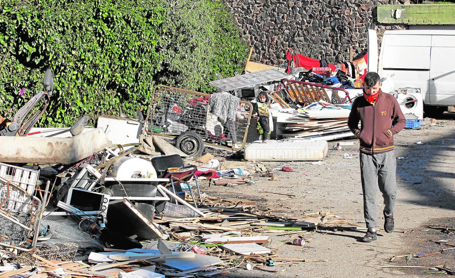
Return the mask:
[[8, 163], [70, 164], [111, 145], [100, 128], [70, 138], [2, 136], [1, 140], [0, 160]]

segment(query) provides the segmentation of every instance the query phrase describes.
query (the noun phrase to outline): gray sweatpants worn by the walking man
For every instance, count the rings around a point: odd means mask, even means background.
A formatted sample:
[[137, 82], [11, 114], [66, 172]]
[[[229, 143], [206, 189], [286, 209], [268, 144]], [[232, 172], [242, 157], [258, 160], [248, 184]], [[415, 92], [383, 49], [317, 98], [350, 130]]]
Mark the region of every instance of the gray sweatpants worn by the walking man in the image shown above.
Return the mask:
[[395, 151], [365, 154], [360, 153], [360, 175], [364, 192], [364, 217], [367, 228], [377, 227], [376, 191], [384, 197], [384, 213], [394, 212], [396, 198]]

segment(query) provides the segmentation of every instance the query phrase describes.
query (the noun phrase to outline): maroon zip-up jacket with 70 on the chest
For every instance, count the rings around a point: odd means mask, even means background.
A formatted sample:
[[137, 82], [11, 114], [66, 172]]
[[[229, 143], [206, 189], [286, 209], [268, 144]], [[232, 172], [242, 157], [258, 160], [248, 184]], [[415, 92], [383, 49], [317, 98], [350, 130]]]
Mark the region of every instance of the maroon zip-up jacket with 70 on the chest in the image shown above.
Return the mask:
[[381, 91], [374, 105], [364, 96], [354, 100], [348, 126], [359, 138], [360, 152], [383, 153], [394, 150], [394, 135], [406, 126], [406, 118], [395, 97]]

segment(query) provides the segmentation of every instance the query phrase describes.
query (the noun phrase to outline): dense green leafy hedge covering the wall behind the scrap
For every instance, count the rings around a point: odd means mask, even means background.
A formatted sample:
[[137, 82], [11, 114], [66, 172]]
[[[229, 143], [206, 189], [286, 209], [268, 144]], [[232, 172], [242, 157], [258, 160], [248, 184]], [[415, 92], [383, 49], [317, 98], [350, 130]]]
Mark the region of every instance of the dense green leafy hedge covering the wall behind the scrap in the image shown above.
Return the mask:
[[[190, 5], [191, 4], [191, 5]], [[219, 0], [6, 0], [0, 14], [0, 112], [55, 91], [40, 126], [144, 109], [159, 83], [207, 91], [239, 71], [246, 49]], [[19, 99], [19, 103], [17, 100]], [[14, 104], [13, 102], [16, 101]]]

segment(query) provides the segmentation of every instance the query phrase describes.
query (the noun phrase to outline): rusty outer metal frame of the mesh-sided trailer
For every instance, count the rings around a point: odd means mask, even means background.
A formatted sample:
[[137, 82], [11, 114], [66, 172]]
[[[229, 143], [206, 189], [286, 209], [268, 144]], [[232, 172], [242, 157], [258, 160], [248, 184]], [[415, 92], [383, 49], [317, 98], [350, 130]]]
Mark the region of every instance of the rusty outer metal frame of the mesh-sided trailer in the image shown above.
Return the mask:
[[[201, 92], [197, 92], [197, 91], [185, 90], [185, 89], [171, 87], [171, 86], [164, 86], [164, 85], [156, 86], [155, 89], [153, 90], [152, 101], [150, 102], [150, 105], [148, 106], [147, 116], [145, 118], [144, 127], [142, 128], [142, 131], [143, 131], [142, 133], [145, 134], [146, 136], [152, 136], [152, 135], [153, 136], [162, 136], [162, 137], [172, 138], [172, 139], [174, 139], [174, 138], [176, 138], [178, 136], [178, 135], [169, 135], [169, 134], [162, 134], [162, 133], [153, 132], [153, 120], [152, 119], [155, 116], [155, 109], [156, 109], [156, 106], [157, 106], [158, 93], [160, 91], [178, 92], [178, 93], [182, 93], [182, 94], [190, 94], [190, 95], [195, 95], [195, 96], [211, 96], [210, 94], [201, 93]], [[245, 129], [244, 134], [240, 134], [240, 136], [243, 136], [243, 141], [242, 141], [242, 145], [240, 146], [240, 148], [235, 149], [233, 147], [222, 146], [221, 144], [212, 144], [211, 142], [207, 142], [206, 138], [203, 138], [201, 136], [202, 140], [204, 141], [204, 146], [213, 147], [213, 148], [219, 148], [219, 149], [224, 149], [224, 150], [234, 150], [234, 151], [239, 151], [243, 147], [246, 146], [247, 134], [248, 134], [248, 129], [249, 129], [249, 125], [250, 125], [249, 119], [251, 118], [251, 115], [253, 113], [253, 105], [250, 102], [248, 102], [248, 101], [240, 101], [240, 102], [245, 103], [249, 107], [249, 115], [248, 115], [247, 127]], [[147, 126], [151, 126], [150, 131], [147, 130]]]

